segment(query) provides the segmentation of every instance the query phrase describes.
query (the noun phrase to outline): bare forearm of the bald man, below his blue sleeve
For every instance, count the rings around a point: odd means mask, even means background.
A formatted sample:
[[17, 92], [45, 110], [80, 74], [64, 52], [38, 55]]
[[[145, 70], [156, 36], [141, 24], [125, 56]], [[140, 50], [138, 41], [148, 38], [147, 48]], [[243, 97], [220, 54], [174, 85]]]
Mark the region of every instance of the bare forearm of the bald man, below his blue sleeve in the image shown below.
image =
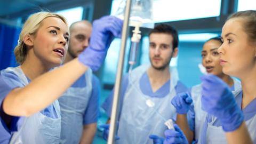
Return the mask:
[[84, 125], [83, 135], [81, 137], [81, 144], [92, 143], [94, 135], [97, 131], [97, 123]]

